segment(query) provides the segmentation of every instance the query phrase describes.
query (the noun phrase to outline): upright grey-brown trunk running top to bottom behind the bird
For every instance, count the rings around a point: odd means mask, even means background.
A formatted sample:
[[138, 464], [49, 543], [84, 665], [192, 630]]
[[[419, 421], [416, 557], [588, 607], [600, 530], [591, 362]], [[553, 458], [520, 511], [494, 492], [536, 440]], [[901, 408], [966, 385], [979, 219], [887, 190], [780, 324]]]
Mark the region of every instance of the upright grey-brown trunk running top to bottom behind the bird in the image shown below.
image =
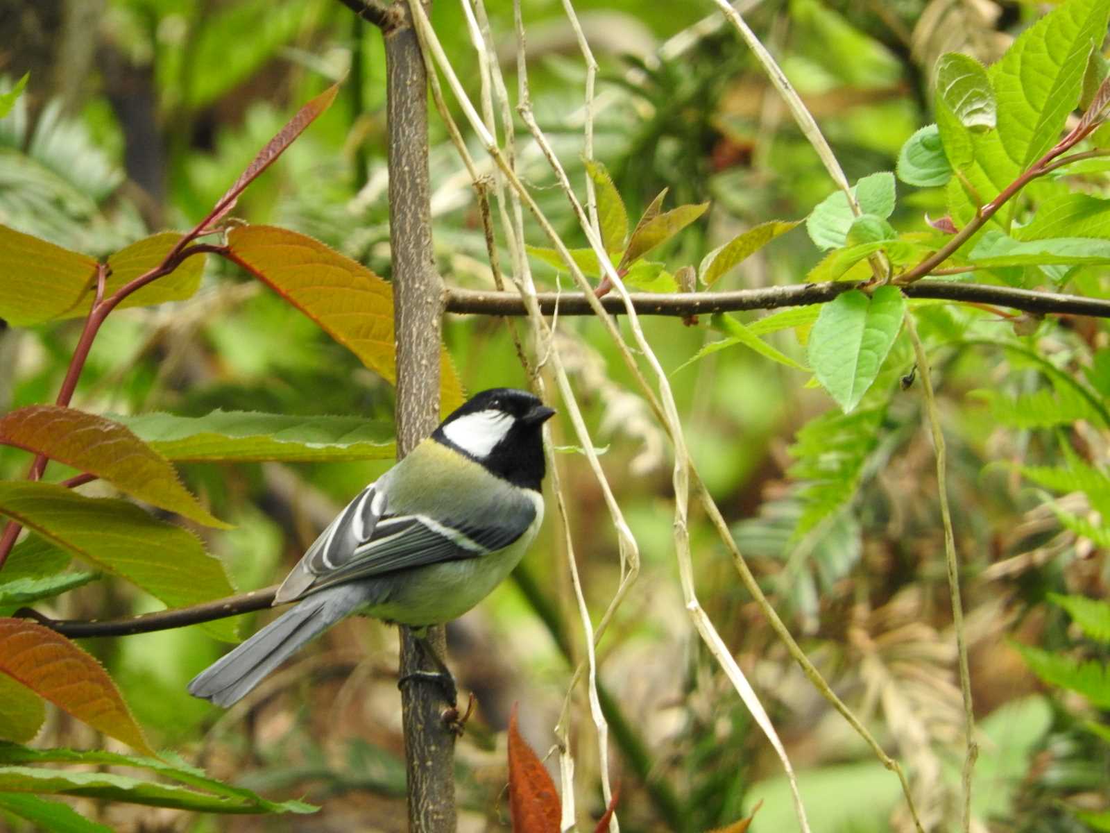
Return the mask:
[[[390, 134], [390, 243], [397, 340], [397, 455], [404, 456], [438, 422], [443, 291], [432, 254], [427, 170], [427, 77], [408, 7], [395, 2], [403, 22], [384, 32]], [[398, 14], [400, 17], [400, 14]], [[428, 634], [441, 658], [443, 628]], [[424, 668], [407, 628], [401, 629], [401, 675]], [[434, 670], [427, 666], [425, 670]], [[414, 833], [455, 830], [455, 736], [444, 721], [446, 703], [434, 683], [402, 685], [408, 770], [408, 826]]]

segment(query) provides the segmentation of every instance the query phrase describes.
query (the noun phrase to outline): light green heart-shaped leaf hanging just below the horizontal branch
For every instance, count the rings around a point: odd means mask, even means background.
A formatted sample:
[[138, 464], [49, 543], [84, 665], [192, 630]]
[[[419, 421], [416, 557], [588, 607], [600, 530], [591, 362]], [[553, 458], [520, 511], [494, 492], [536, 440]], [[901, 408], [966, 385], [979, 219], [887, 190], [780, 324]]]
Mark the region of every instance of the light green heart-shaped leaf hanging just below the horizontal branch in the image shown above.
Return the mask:
[[870, 298], [850, 290], [821, 309], [809, 334], [809, 363], [845, 413], [871, 387], [905, 313], [906, 298], [896, 287], [879, 287]]

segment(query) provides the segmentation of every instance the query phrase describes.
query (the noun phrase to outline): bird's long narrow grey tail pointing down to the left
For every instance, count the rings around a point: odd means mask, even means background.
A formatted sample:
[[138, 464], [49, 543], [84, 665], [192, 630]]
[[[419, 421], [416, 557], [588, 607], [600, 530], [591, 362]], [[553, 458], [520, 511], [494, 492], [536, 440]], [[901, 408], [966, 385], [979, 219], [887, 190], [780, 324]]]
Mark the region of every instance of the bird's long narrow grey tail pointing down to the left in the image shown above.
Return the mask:
[[194, 676], [189, 693], [224, 707], [239, 702], [297, 649], [363, 601], [364, 594], [350, 585], [310, 595]]

